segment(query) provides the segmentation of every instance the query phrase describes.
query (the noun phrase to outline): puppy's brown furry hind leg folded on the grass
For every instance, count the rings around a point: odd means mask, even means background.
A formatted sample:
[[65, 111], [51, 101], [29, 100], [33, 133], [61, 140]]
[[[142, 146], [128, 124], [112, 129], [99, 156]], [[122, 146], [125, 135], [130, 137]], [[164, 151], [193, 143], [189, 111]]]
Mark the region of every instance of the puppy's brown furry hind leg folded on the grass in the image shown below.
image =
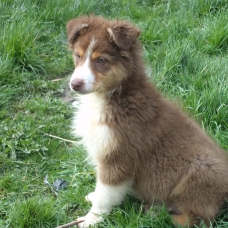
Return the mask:
[[171, 205], [173, 208], [178, 208], [178, 213], [170, 213], [174, 223], [183, 227], [194, 227], [204, 221], [209, 227], [214, 221], [223, 205], [224, 190], [218, 187], [221, 185], [215, 180], [212, 179], [210, 182], [202, 177], [204, 177], [202, 171], [191, 173], [172, 192], [173, 205]]

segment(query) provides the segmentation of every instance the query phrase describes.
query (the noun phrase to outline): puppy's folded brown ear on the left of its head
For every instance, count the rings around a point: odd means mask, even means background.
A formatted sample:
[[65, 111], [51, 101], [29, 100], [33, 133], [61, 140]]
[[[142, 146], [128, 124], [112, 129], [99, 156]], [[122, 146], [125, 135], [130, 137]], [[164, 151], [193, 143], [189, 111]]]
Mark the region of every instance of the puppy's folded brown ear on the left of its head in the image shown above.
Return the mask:
[[89, 25], [85, 23], [85, 19], [86, 18], [82, 16], [67, 22], [67, 37], [70, 44], [73, 44], [77, 40], [83, 29], [89, 27]]

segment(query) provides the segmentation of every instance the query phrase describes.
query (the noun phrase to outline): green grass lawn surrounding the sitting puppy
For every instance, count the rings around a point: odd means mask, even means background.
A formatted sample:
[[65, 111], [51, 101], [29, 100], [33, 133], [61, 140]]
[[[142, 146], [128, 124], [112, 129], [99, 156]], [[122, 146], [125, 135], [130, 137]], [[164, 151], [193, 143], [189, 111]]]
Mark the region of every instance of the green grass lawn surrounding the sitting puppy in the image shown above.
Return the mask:
[[[55, 227], [89, 210], [95, 175], [85, 151], [50, 137], [75, 140], [61, 94], [73, 71], [65, 24], [78, 15], [138, 25], [152, 80], [228, 150], [226, 0], [1, 0], [0, 9], [0, 227]], [[47, 174], [67, 190], [56, 196]], [[164, 208], [151, 217], [128, 197], [101, 227], [172, 225]], [[228, 227], [227, 208], [214, 227]]]

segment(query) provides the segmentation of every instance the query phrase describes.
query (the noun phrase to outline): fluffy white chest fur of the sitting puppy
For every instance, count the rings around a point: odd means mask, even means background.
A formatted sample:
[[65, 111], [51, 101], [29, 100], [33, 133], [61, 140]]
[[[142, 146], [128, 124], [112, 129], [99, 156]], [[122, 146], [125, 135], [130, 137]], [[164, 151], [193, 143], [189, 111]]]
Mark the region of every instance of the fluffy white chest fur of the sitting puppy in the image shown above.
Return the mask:
[[82, 138], [88, 159], [94, 165], [116, 147], [112, 130], [101, 121], [105, 104], [105, 99], [96, 94], [82, 95], [73, 119], [73, 133]]

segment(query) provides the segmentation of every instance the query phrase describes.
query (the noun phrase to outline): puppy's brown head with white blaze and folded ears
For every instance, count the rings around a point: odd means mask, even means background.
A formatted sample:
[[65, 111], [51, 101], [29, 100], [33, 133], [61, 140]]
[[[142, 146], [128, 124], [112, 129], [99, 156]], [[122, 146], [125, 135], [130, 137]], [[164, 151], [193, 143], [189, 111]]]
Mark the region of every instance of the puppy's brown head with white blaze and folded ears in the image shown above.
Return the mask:
[[81, 94], [113, 90], [134, 68], [139, 34], [134, 25], [119, 20], [94, 15], [70, 20], [67, 35], [75, 64], [71, 89]]

